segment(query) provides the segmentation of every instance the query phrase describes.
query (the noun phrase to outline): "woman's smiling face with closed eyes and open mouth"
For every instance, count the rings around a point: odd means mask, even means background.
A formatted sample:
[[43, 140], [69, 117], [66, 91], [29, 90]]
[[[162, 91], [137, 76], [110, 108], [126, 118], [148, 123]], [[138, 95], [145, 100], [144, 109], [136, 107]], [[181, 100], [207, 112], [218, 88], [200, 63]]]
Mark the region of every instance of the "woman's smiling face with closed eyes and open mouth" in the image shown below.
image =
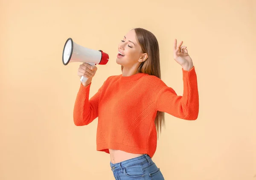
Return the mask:
[[136, 40], [135, 31], [131, 30], [118, 45], [116, 63], [124, 67], [132, 67], [134, 64], [142, 62], [145, 56], [146, 54], [142, 52]]

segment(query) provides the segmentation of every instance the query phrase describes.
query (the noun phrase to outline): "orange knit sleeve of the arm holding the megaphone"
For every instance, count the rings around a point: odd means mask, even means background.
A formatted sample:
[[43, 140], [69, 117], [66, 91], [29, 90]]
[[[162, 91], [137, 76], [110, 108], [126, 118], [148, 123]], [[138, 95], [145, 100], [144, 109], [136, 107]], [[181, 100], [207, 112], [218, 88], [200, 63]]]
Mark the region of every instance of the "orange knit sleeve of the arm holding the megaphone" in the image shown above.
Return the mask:
[[89, 100], [90, 86], [91, 83], [86, 87], [81, 84], [77, 93], [73, 110], [73, 120], [76, 126], [88, 125], [98, 117], [99, 97], [103, 85]]

